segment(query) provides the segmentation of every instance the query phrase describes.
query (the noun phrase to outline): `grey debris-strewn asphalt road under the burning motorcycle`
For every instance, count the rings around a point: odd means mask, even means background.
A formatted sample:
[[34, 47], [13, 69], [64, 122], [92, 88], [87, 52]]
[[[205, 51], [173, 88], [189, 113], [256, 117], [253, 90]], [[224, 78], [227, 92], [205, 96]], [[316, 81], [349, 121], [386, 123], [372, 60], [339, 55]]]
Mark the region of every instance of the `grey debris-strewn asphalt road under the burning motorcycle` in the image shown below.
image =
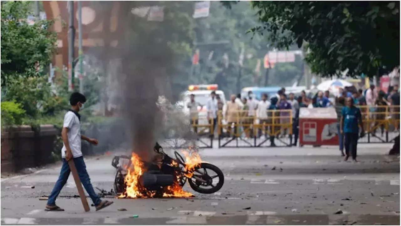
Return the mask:
[[[86, 213], [74, 197], [72, 177], [57, 199], [65, 212], [44, 211], [46, 201], [38, 198], [53, 188], [60, 170], [56, 165], [2, 178], [1, 223], [399, 225], [399, 158], [385, 156], [390, 146], [360, 145], [356, 164], [341, 161], [336, 148], [205, 149], [203, 160], [225, 173], [219, 192], [180, 199], [104, 197], [114, 204]], [[111, 158], [87, 159], [93, 185], [107, 191], [115, 174]], [[191, 191], [189, 186], [185, 190]]]

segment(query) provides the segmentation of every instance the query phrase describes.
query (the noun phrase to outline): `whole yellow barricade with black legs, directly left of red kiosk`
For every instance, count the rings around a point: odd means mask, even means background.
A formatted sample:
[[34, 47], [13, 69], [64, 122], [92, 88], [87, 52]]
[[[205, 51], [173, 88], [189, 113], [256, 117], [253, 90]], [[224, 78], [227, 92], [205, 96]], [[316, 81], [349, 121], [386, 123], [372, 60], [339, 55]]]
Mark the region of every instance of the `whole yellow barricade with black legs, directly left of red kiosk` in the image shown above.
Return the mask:
[[[267, 110], [267, 118], [249, 116], [248, 111], [218, 114], [219, 148], [224, 147], [287, 147], [292, 144], [292, 110]], [[234, 120], [233, 120], [234, 119]]]

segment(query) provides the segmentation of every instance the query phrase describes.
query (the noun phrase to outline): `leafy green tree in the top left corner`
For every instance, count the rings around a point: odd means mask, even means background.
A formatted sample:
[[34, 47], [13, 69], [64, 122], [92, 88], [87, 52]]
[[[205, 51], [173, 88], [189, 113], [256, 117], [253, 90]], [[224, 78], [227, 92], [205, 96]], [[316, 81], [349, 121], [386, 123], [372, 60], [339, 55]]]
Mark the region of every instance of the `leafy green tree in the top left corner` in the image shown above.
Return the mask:
[[26, 22], [31, 2], [2, 2], [1, 7], [1, 87], [13, 78], [40, 76], [38, 65], [47, 66], [56, 47], [53, 21]]

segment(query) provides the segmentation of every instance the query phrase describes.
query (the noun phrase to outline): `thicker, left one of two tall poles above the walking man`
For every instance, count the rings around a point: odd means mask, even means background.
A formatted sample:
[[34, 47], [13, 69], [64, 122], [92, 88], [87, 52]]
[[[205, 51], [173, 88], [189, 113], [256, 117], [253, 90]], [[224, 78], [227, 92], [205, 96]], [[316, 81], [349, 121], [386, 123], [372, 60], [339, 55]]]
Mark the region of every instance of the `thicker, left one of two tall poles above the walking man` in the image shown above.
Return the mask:
[[74, 28], [74, 1], [68, 1], [69, 11], [69, 36], [68, 36], [68, 91], [74, 90], [74, 41], [75, 41], [75, 28]]

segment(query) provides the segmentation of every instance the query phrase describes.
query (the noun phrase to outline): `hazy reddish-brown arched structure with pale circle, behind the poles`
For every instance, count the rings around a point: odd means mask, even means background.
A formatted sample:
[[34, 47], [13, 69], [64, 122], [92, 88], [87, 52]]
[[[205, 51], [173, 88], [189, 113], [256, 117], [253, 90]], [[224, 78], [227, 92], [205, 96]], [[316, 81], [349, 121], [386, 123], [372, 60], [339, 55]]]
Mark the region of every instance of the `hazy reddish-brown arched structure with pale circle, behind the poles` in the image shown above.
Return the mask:
[[[53, 56], [53, 65], [58, 68], [68, 65], [68, 21], [67, 1], [43, 1], [48, 19], [55, 19], [51, 29], [57, 32], [57, 53]], [[82, 2], [82, 37], [83, 51], [93, 47], [119, 47], [119, 33], [124, 30], [124, 2]], [[74, 2], [75, 13], [75, 58], [78, 56], [78, 11]], [[109, 48], [107, 48], [109, 49]]]

